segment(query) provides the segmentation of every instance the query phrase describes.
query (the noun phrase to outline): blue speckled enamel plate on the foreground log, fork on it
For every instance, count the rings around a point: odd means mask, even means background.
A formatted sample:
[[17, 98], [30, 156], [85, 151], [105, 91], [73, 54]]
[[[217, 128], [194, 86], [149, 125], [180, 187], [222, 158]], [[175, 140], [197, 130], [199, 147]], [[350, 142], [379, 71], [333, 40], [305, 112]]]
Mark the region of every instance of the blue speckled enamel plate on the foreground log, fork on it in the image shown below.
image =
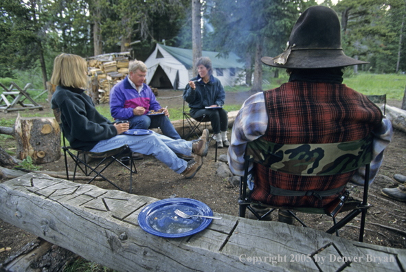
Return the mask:
[[175, 209], [190, 215], [213, 215], [209, 206], [194, 199], [163, 199], [142, 209], [138, 215], [139, 227], [156, 236], [179, 238], [196, 234], [212, 223], [210, 218], [181, 218], [174, 214]]

